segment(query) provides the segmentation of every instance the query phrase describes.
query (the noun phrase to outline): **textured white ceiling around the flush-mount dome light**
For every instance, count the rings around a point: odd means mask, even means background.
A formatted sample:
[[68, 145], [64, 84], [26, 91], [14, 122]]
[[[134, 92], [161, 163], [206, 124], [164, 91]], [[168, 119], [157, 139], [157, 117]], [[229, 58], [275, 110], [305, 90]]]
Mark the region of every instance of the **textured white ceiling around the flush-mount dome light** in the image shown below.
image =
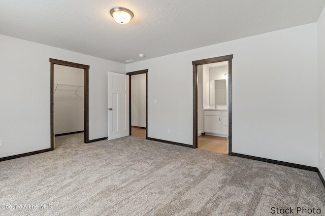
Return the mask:
[[[316, 22], [325, 0], [0, 0], [0, 34], [140, 61]], [[133, 11], [128, 24], [109, 11]], [[139, 54], [145, 57], [139, 57]]]

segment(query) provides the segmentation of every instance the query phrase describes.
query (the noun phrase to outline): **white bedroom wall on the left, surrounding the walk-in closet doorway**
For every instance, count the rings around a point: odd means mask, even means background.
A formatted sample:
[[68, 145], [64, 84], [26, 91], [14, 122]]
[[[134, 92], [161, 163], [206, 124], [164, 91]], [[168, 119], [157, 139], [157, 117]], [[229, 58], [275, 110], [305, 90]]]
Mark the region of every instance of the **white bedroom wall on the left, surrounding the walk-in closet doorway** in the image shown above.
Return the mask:
[[50, 148], [49, 58], [90, 66], [89, 139], [107, 136], [107, 71], [124, 64], [0, 35], [0, 158]]

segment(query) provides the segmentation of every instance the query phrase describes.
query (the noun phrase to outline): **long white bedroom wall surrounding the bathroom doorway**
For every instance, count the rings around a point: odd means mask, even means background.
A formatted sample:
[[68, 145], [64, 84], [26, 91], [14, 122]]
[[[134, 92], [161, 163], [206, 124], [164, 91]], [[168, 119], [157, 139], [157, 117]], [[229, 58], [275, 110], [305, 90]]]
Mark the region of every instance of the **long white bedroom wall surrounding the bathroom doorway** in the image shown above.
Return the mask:
[[127, 64], [127, 71], [149, 69], [148, 136], [192, 145], [191, 63], [233, 54], [233, 152], [316, 167], [316, 27]]

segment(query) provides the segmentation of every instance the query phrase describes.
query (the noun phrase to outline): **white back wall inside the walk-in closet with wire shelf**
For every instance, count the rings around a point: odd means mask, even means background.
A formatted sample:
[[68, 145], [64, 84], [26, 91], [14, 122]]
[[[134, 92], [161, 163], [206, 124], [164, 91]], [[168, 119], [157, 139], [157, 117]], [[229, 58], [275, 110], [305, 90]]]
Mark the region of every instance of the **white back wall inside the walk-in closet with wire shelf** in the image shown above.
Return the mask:
[[84, 130], [84, 69], [54, 64], [54, 134]]

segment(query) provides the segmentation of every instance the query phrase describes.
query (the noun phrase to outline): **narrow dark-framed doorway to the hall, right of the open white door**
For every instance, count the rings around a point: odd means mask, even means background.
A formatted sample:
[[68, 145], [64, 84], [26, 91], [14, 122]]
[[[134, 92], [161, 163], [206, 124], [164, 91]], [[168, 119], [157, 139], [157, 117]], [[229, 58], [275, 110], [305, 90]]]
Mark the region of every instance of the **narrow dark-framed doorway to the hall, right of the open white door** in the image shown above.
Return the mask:
[[129, 135], [148, 138], [148, 69], [129, 75]]

